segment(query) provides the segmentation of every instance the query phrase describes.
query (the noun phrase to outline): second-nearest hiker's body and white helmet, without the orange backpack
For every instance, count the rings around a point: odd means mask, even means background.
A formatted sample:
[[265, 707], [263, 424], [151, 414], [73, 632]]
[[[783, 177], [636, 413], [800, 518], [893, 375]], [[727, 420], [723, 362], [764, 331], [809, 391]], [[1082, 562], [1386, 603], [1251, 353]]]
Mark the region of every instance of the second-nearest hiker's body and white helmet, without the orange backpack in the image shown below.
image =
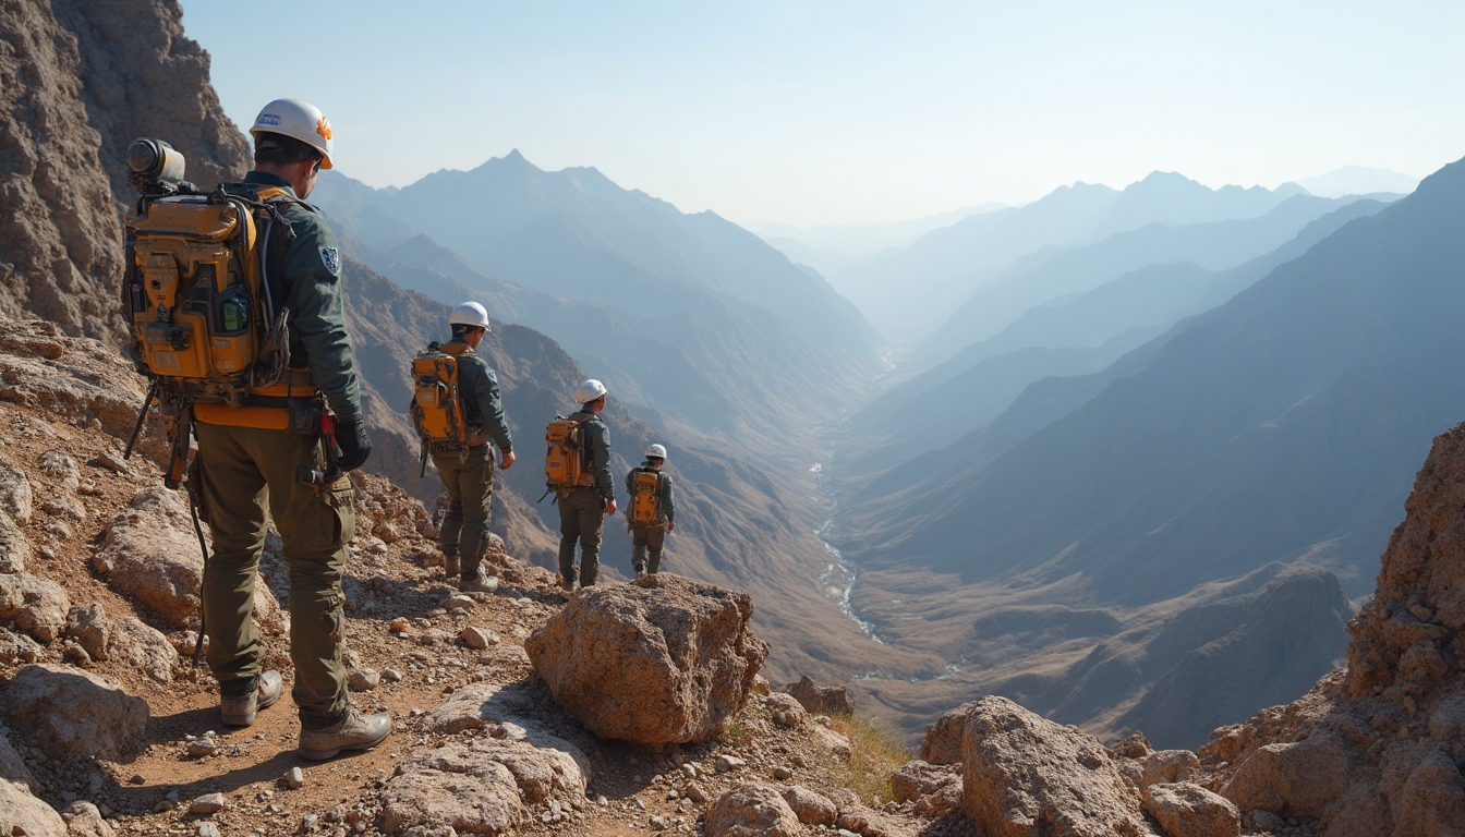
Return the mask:
[[[498, 378], [475, 349], [489, 331], [488, 311], [476, 302], [464, 302], [448, 317], [453, 339], [429, 352], [441, 352], [454, 359], [457, 409], [466, 434], [463, 438], [440, 441], [423, 434], [432, 451], [432, 465], [448, 493], [448, 513], [442, 519], [440, 548], [447, 575], [459, 576], [463, 592], [492, 592], [479, 564], [488, 550], [488, 522], [494, 515], [494, 447], [502, 456], [501, 468], [514, 466], [514, 440], [504, 421], [498, 397]], [[415, 405], [422, 403], [416, 399]], [[419, 425], [420, 432], [420, 425]]]

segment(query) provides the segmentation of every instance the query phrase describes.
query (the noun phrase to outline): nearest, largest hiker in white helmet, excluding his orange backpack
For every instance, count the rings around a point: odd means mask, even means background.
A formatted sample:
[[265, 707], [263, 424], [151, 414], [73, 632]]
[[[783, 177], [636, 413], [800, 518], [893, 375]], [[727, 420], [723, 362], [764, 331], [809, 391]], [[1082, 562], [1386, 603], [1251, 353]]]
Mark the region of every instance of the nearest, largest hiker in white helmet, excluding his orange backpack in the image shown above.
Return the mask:
[[[341, 665], [341, 573], [356, 529], [344, 472], [360, 468], [372, 446], [346, 333], [340, 251], [319, 210], [303, 202], [319, 170], [331, 167], [330, 122], [315, 106], [286, 98], [267, 104], [249, 133], [255, 167], [224, 189], [268, 202], [289, 223], [292, 236], [264, 236], [277, 248], [265, 257], [272, 273], [264, 284], [289, 311], [289, 371], [242, 406], [193, 408], [202, 510], [214, 534], [201, 597], [208, 665], [224, 724], [246, 727], [280, 698], [280, 673], [264, 670], [265, 646], [251, 617], [268, 504], [290, 564], [297, 752], [327, 759], [391, 733], [390, 715], [352, 707]], [[314, 429], [297, 419], [314, 421]]]

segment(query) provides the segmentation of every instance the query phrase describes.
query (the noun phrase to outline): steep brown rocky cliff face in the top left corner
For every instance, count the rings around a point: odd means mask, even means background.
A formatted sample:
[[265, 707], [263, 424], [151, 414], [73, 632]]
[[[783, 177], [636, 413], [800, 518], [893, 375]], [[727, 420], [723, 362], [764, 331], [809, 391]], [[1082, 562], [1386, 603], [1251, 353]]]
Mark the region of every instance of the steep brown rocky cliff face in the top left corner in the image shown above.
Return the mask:
[[199, 185], [242, 173], [248, 144], [174, 0], [0, 9], [0, 312], [116, 343], [127, 144], [166, 136]]

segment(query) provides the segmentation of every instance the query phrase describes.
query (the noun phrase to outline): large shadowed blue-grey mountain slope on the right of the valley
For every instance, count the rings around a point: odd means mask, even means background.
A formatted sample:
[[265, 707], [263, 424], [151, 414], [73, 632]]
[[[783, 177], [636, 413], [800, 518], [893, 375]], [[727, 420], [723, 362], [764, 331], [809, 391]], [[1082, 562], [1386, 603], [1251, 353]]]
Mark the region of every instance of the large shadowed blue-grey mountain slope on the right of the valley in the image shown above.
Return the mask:
[[847, 509], [845, 554], [1134, 604], [1313, 554], [1361, 592], [1420, 450], [1465, 409], [1462, 218], [1456, 163], [996, 459]]

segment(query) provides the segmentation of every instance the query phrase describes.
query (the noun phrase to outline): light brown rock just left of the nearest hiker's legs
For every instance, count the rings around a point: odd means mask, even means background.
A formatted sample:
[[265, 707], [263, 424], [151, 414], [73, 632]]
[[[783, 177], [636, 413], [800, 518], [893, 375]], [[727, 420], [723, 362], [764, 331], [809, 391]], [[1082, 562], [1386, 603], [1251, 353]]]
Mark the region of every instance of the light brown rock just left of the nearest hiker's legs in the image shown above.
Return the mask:
[[196, 623], [204, 557], [188, 503], [177, 491], [161, 485], [139, 491], [107, 529], [105, 547], [92, 557], [92, 569], [107, 586], [138, 600], [168, 624]]

